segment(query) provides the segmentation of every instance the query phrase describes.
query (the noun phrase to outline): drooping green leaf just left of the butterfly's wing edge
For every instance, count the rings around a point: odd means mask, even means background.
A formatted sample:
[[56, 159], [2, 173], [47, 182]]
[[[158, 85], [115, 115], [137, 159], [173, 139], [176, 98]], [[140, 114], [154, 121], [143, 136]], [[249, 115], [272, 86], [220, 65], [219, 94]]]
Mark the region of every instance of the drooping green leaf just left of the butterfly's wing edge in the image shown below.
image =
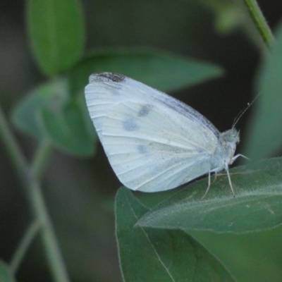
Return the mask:
[[54, 144], [64, 151], [81, 157], [94, 154], [94, 130], [85, 105], [80, 101], [69, 101], [54, 105], [43, 112], [44, 126]]

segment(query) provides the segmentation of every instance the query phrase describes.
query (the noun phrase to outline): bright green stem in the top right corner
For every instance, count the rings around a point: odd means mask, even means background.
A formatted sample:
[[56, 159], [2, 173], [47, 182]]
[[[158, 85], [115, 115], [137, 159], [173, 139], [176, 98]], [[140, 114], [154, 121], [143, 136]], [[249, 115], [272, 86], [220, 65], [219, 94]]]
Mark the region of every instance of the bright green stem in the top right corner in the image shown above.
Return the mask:
[[262, 39], [264, 40], [267, 47], [271, 48], [274, 42], [274, 35], [271, 32], [269, 25], [266, 23], [266, 19], [262, 14], [256, 0], [244, 0], [247, 10], [254, 21], [257, 30], [259, 31]]

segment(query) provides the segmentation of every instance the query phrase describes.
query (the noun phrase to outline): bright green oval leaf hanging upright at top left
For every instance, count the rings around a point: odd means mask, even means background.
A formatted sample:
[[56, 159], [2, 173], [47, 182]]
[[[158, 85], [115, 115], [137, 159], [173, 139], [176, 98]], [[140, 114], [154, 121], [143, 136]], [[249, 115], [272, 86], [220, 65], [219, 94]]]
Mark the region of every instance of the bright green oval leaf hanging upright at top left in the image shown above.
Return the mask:
[[45, 74], [66, 71], [80, 59], [85, 30], [78, 0], [28, 0], [27, 29]]

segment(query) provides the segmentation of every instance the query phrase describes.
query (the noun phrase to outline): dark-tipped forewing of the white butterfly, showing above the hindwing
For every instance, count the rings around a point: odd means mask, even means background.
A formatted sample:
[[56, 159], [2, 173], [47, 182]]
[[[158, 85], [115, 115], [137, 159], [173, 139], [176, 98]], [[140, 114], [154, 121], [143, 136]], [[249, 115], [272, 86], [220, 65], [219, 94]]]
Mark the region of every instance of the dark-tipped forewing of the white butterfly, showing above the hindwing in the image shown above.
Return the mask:
[[[168, 112], [176, 111], [195, 121], [201, 127], [219, 137], [219, 130], [190, 106], [167, 94], [155, 90], [141, 82], [114, 73], [96, 73], [90, 76], [90, 84], [85, 87], [85, 99], [90, 116], [99, 134], [102, 118], [116, 103], [133, 100], [141, 104], [163, 104]], [[145, 102], [145, 103], [144, 103]]]

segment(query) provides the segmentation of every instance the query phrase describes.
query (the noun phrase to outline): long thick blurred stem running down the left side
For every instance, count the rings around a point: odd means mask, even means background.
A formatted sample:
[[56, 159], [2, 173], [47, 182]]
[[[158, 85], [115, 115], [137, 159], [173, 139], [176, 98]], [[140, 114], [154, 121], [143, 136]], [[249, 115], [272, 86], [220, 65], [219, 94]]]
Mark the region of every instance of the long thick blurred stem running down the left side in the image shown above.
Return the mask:
[[28, 200], [32, 211], [35, 214], [35, 220], [40, 224], [40, 235], [45, 248], [51, 274], [56, 282], [68, 282], [66, 266], [63, 262], [59, 244], [56, 240], [54, 228], [49, 219], [47, 207], [41, 192], [40, 185], [32, 168], [27, 164], [23, 153], [11, 132], [6, 117], [0, 106], [0, 138], [2, 139], [6, 152], [10, 157], [13, 166], [16, 168], [20, 180], [27, 192]]

